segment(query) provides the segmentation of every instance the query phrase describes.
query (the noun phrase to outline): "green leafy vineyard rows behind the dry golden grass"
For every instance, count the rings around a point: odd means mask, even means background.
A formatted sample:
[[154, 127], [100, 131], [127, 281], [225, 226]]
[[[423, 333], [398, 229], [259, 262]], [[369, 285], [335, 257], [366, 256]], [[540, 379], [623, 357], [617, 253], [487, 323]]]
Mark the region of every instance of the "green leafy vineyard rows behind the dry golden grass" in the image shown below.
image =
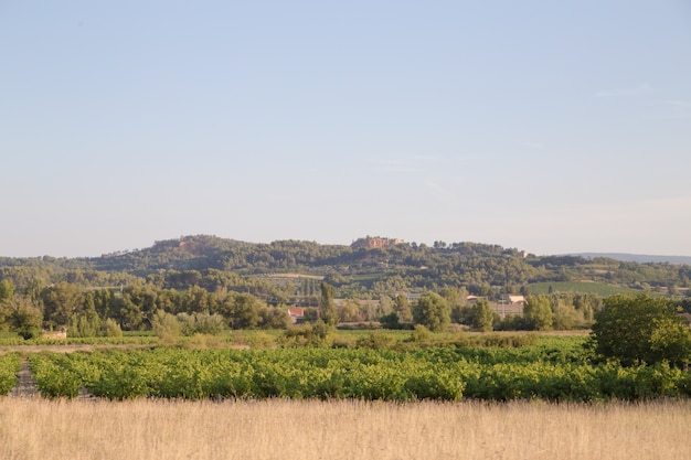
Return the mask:
[[[561, 343], [555, 346], [557, 341]], [[689, 372], [667, 364], [589, 364], [582, 342], [570, 338], [519, 349], [410, 351], [108, 350], [40, 353], [29, 361], [44, 396], [67, 398], [77, 396], [82, 388], [107, 399], [595, 402], [691, 396]], [[7, 366], [11, 366], [11, 359]]]

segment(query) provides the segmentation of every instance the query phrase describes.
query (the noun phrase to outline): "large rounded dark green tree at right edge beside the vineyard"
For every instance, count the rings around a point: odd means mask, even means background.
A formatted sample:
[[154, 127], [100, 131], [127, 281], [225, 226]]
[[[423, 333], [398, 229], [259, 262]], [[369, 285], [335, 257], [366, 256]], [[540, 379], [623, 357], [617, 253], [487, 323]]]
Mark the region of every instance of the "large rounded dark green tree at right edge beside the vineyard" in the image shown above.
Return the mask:
[[591, 338], [598, 354], [624, 365], [691, 361], [689, 324], [672, 300], [647, 293], [606, 298], [595, 314]]

